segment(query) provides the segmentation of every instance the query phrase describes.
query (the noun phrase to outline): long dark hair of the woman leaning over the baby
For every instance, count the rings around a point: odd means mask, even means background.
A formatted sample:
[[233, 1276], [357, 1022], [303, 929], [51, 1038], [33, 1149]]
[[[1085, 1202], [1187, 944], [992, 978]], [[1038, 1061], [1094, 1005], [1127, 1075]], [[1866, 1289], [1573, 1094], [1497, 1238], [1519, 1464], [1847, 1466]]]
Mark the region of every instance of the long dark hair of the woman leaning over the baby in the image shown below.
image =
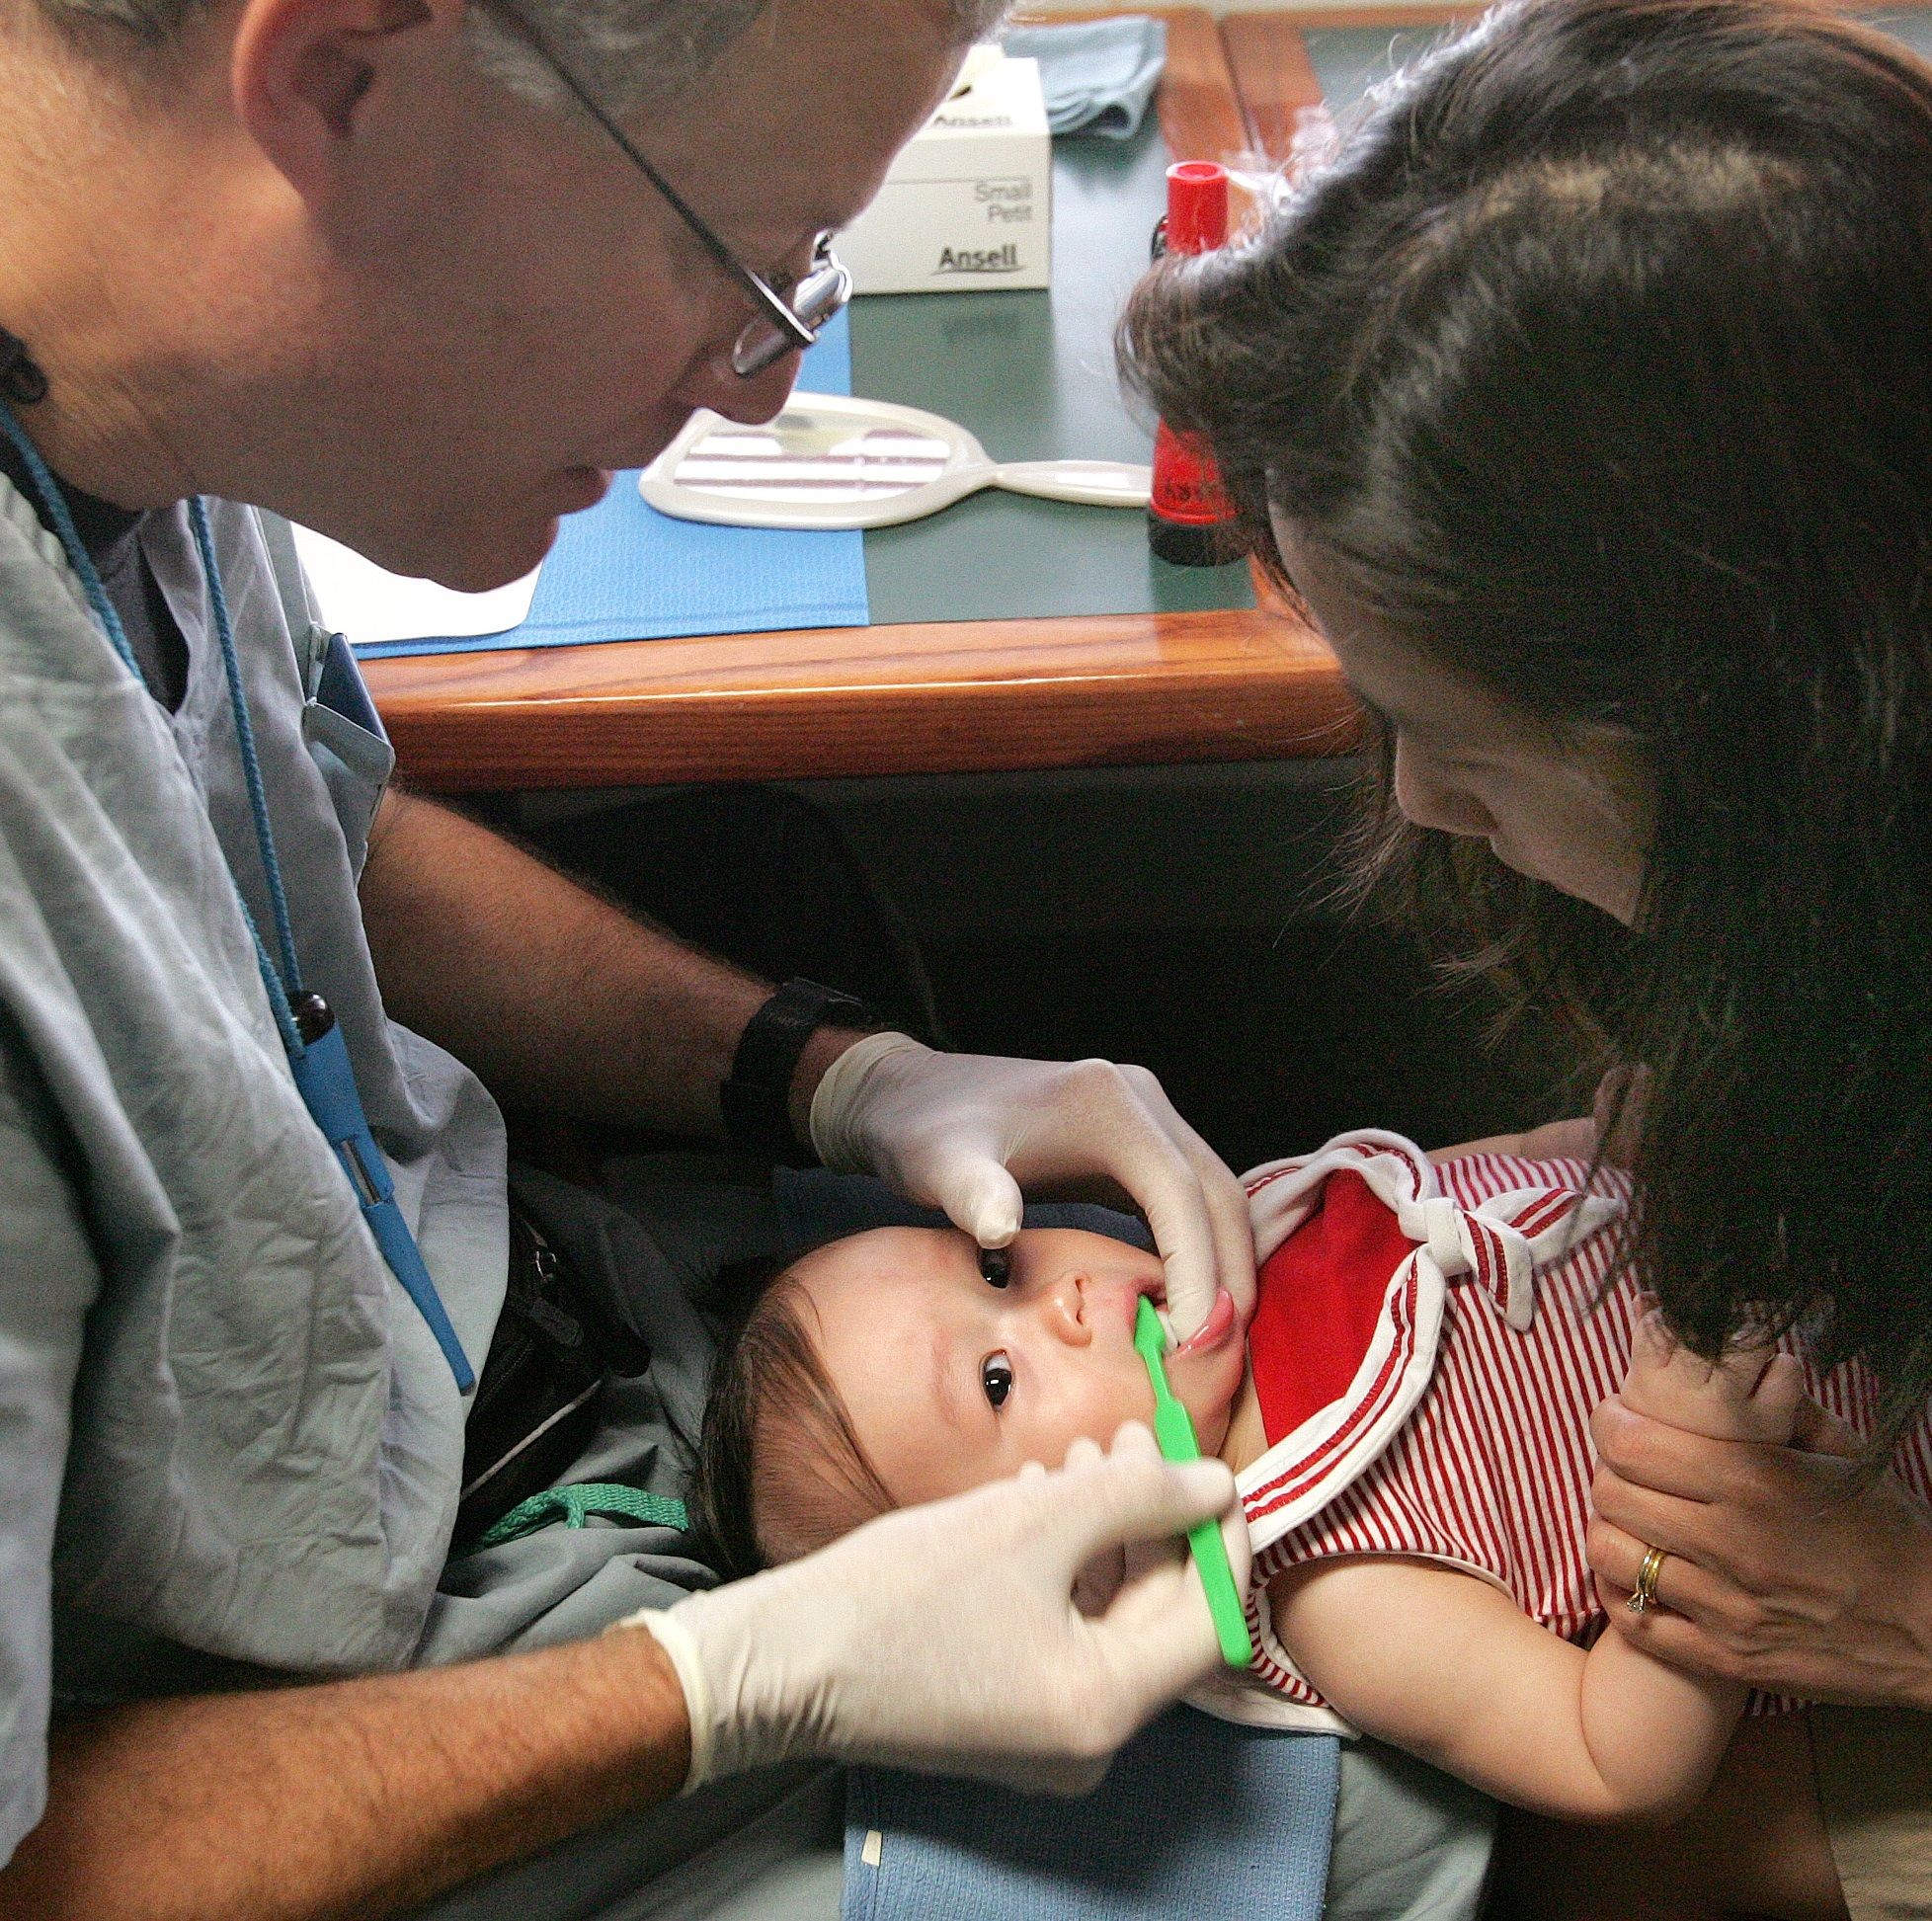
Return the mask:
[[[1405, 827], [1445, 955], [1650, 1067], [1633, 1258], [1710, 1355], [1932, 1388], [1932, 73], [1781, 0], [1532, 0], [1177, 263], [1130, 381], [1379, 626], [1656, 783], [1636, 932]], [[1932, 1237], [1928, 1237], [1932, 1239]]]

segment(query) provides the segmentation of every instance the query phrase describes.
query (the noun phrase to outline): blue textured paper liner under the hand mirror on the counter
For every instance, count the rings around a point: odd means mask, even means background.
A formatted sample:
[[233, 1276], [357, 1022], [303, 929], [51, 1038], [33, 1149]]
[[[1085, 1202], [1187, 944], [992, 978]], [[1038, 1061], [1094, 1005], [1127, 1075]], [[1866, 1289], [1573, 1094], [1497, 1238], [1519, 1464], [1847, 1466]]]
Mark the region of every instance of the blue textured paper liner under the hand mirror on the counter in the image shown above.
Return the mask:
[[[798, 385], [852, 392], [846, 315], [806, 354]], [[574, 647], [595, 640], [676, 640], [782, 628], [866, 626], [866, 535], [773, 528], [705, 528], [643, 504], [636, 473], [572, 514], [537, 576], [522, 626], [462, 640], [384, 640], [363, 659], [396, 653], [489, 653]]]

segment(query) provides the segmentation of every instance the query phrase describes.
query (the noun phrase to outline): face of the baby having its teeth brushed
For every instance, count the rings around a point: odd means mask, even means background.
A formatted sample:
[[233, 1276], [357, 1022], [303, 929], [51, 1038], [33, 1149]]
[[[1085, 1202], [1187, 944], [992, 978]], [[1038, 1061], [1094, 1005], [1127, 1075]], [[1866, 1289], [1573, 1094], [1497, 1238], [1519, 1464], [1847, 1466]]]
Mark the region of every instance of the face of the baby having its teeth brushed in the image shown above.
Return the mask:
[[[1105, 1235], [1043, 1227], [1007, 1248], [1007, 1279], [981, 1274], [968, 1235], [881, 1227], [794, 1268], [819, 1359], [860, 1442], [900, 1505], [1059, 1467], [1082, 1434], [1103, 1446], [1153, 1419], [1134, 1353], [1142, 1295], [1165, 1299], [1153, 1254]], [[1169, 1355], [1167, 1378], [1202, 1453], [1227, 1430], [1246, 1351], [1238, 1330]]]

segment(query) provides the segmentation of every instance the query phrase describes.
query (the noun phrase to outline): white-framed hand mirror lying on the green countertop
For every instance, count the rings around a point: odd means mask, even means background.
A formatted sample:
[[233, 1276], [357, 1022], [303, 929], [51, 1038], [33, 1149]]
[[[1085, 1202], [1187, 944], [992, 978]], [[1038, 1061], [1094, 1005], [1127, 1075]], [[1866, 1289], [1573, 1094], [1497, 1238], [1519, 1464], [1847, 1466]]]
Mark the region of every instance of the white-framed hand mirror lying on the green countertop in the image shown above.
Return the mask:
[[792, 394], [759, 427], [696, 414], [638, 477], [661, 514], [728, 528], [891, 528], [981, 487], [1142, 508], [1151, 473], [1122, 460], [997, 462], [958, 421], [920, 408]]

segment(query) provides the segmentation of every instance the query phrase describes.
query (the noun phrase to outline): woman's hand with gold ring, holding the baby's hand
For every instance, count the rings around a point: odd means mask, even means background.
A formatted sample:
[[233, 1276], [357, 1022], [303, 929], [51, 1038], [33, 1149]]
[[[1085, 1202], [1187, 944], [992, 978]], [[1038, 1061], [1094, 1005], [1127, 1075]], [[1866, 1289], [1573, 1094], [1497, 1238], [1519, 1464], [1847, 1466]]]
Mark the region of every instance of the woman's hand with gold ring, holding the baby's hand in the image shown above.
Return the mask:
[[[1932, 1509], [1816, 1401], [1797, 1444], [1710, 1440], [1604, 1401], [1590, 1563], [1617, 1633], [1660, 1660], [1806, 1701], [1932, 1708]], [[1631, 1614], [1646, 1548], [1658, 1606]]]

